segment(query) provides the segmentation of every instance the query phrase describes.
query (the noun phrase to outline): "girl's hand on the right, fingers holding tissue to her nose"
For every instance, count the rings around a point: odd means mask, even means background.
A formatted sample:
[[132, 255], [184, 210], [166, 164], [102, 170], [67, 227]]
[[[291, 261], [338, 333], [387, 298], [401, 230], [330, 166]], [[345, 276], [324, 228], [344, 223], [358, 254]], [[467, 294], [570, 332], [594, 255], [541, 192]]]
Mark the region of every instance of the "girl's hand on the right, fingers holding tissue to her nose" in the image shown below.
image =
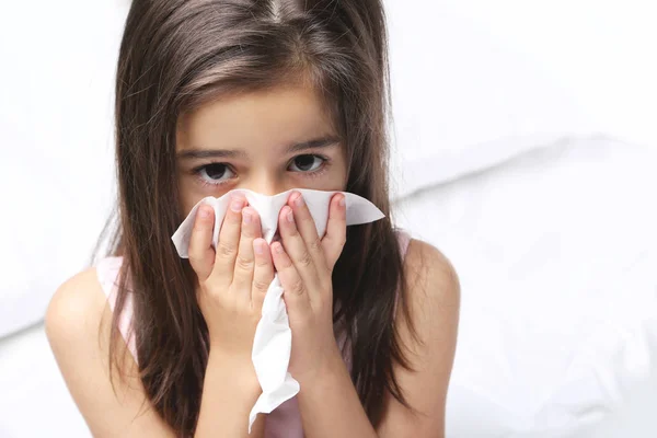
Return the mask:
[[281, 242], [272, 244], [272, 256], [292, 331], [289, 371], [299, 382], [325, 372], [336, 359], [342, 361], [333, 333], [332, 274], [347, 235], [344, 201], [342, 194], [331, 199], [323, 239], [298, 192], [278, 217]]

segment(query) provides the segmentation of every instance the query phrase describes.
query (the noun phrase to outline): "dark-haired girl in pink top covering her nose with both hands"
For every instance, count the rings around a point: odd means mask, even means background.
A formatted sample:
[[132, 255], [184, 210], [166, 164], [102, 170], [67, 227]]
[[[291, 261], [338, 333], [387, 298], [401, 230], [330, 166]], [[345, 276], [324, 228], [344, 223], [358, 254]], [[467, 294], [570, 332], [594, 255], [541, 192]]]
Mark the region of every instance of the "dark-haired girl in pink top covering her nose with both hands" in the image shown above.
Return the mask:
[[299, 193], [278, 242], [234, 197], [211, 246], [171, 235], [233, 188], [351, 192], [390, 214], [380, 0], [135, 0], [116, 81], [119, 221], [111, 256], [56, 292], [46, 330], [97, 437], [247, 437], [251, 361], [278, 272], [300, 393], [253, 437], [442, 437], [459, 285], [390, 220], [319, 239]]

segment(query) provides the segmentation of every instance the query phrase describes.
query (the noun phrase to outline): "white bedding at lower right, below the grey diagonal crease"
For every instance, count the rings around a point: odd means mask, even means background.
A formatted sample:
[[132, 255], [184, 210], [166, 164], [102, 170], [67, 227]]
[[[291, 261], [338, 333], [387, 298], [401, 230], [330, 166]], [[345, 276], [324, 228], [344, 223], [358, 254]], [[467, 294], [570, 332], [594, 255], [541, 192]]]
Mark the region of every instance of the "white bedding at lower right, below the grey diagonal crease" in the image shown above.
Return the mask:
[[564, 140], [397, 205], [461, 278], [449, 436], [657, 433], [656, 152]]

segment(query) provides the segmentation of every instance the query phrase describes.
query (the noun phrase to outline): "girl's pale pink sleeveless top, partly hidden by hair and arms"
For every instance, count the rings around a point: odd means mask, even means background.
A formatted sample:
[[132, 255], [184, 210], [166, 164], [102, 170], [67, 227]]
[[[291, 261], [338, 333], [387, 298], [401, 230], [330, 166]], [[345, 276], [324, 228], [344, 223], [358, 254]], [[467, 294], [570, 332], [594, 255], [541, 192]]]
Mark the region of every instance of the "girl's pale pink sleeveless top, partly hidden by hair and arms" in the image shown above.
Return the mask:
[[[411, 237], [403, 230], [397, 229], [396, 235], [400, 243], [402, 256], [406, 254]], [[96, 265], [96, 274], [103, 291], [110, 301], [110, 308], [114, 311], [117, 297], [118, 275], [123, 257], [105, 257], [99, 261]], [[128, 292], [124, 310], [118, 320], [118, 330], [126, 339], [128, 349], [137, 360], [137, 348], [135, 336], [130, 330], [132, 323], [132, 295]], [[349, 366], [350, 358], [344, 358]], [[301, 426], [301, 415], [297, 397], [292, 397], [274, 410], [266, 417], [265, 438], [303, 438], [303, 428]]]

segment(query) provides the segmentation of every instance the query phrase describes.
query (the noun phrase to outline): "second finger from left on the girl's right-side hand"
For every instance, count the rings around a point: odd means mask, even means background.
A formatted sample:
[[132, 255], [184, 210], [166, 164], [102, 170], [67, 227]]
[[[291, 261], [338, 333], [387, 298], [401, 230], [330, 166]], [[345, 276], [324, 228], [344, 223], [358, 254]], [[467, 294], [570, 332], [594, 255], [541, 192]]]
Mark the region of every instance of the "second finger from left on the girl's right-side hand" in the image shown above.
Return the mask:
[[278, 228], [280, 230], [280, 239], [285, 252], [295, 265], [299, 276], [308, 286], [310, 293], [312, 293], [310, 298], [312, 300], [319, 298], [315, 293], [319, 293], [322, 288], [318, 268], [301, 233], [297, 229], [295, 215], [289, 206], [285, 206], [280, 209]]

